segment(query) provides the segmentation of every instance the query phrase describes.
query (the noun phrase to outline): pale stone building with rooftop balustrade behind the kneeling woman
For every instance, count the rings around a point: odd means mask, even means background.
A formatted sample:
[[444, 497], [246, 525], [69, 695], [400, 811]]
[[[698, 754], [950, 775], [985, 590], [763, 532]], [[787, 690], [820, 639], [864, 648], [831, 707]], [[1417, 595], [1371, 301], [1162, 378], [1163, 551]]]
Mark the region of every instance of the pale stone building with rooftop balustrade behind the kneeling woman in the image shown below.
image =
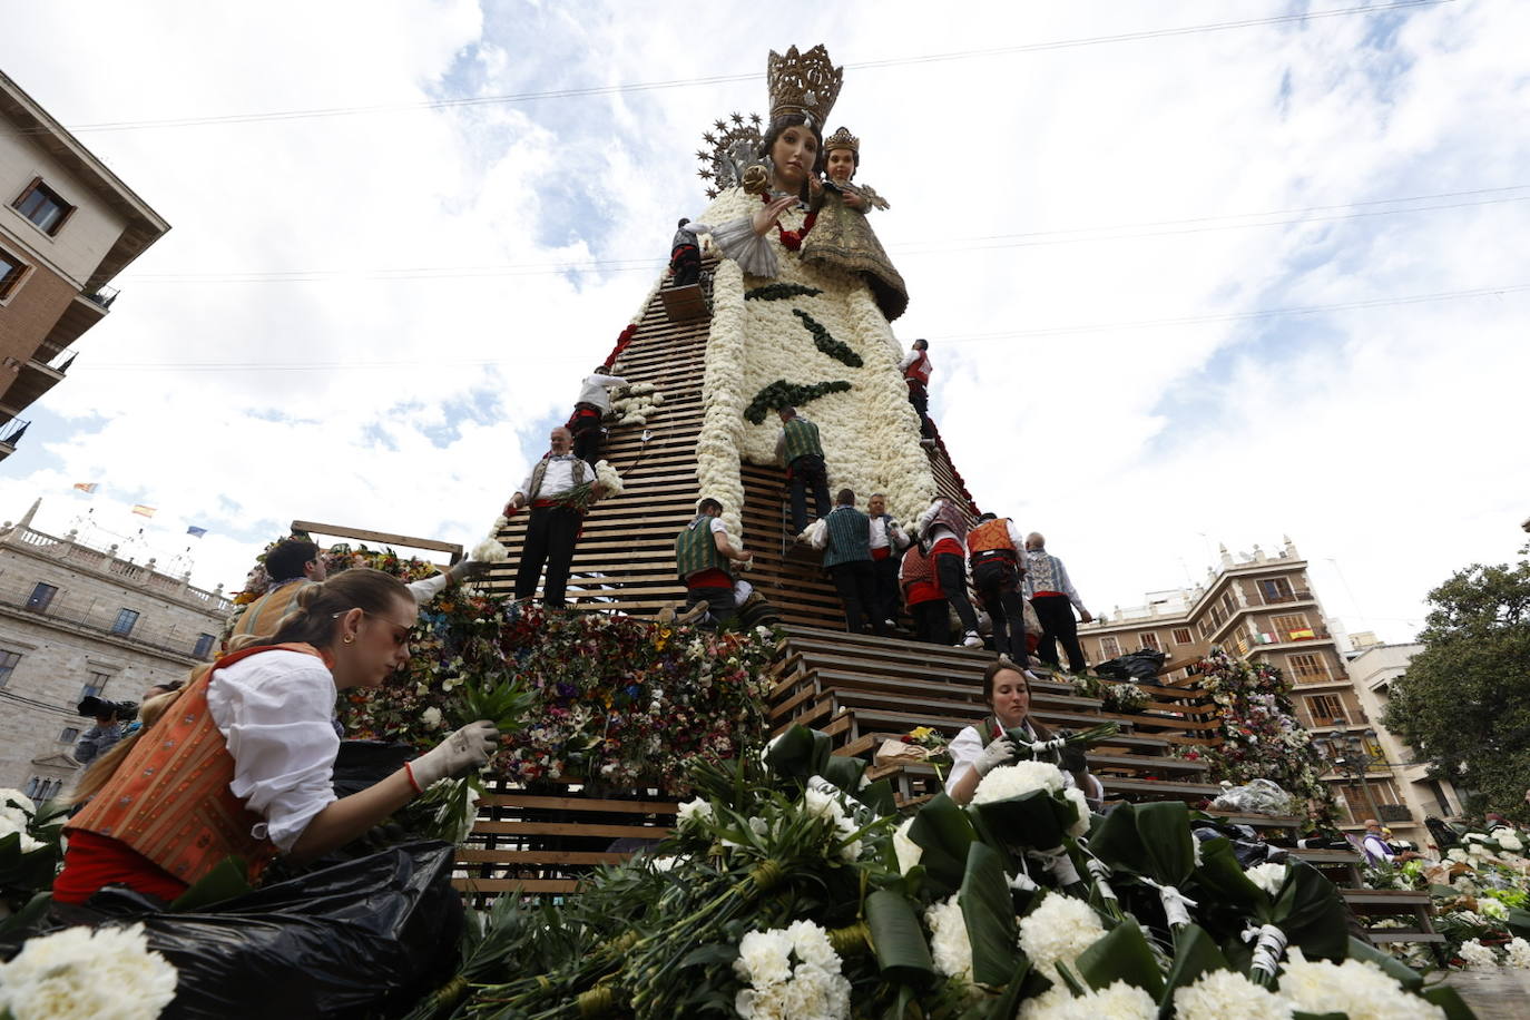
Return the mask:
[[116, 546], [34, 531], [35, 512], [0, 526], [0, 786], [50, 797], [80, 774], [75, 742], [95, 725], [80, 699], [138, 702], [185, 677], [213, 658], [233, 603]]

